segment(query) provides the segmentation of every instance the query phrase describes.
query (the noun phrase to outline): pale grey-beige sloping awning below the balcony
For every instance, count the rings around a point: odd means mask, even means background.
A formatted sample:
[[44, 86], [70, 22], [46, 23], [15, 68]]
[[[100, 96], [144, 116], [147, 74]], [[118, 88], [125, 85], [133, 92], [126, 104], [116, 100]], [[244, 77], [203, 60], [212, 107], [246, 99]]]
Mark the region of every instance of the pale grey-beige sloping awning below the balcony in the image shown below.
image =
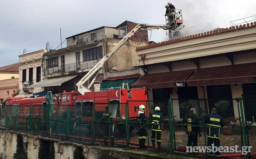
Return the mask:
[[75, 78], [76, 76], [77, 75], [56, 77], [56, 78], [46, 78], [45, 80], [35, 83], [34, 85], [28, 86], [28, 88], [59, 86], [62, 83]]

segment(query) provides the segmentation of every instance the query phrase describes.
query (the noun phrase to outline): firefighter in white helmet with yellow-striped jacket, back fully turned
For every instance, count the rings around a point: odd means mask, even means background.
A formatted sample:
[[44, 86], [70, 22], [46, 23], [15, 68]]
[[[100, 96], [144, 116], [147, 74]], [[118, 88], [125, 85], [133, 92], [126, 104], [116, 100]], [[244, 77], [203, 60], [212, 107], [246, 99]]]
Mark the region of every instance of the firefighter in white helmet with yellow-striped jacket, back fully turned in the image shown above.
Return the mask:
[[[155, 112], [150, 116], [150, 122], [152, 124], [151, 141], [153, 148], [155, 147], [155, 141], [157, 139], [158, 149], [161, 149], [161, 131], [164, 116], [160, 113], [160, 107], [155, 107]], [[156, 136], [157, 135], [157, 136]], [[156, 137], [156, 139], [155, 139]]]

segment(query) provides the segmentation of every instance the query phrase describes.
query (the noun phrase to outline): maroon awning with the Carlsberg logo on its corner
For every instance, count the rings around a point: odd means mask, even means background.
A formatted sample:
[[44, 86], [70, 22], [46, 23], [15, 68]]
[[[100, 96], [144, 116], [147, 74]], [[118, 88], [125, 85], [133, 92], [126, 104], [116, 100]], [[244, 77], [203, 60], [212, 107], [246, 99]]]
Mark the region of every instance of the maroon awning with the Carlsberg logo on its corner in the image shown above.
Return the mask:
[[145, 74], [137, 80], [133, 88], [165, 88], [184, 87], [186, 79], [194, 72], [192, 70], [182, 70], [173, 72], [163, 72], [156, 74]]

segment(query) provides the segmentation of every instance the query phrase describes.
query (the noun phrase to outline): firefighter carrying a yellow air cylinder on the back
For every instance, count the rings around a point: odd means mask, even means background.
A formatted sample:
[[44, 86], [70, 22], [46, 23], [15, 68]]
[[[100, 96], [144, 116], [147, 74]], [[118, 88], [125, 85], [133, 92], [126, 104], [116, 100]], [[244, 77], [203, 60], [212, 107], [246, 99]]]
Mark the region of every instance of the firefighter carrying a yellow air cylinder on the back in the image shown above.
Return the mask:
[[[190, 109], [190, 114], [186, 115], [182, 122], [186, 125], [195, 125], [195, 126], [187, 126], [186, 129], [186, 134], [188, 134], [188, 146], [197, 146], [197, 141], [198, 141], [198, 135], [201, 137], [201, 129], [200, 127], [200, 122], [198, 120], [198, 117], [196, 116], [196, 109], [192, 108]], [[193, 150], [193, 149], [192, 149]]]

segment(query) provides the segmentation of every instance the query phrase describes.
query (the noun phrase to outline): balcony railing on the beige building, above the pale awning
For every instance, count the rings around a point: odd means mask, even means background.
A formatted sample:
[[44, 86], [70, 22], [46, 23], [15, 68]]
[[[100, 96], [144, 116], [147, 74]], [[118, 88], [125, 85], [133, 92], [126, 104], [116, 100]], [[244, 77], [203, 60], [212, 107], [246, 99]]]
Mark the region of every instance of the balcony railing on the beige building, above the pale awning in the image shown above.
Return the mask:
[[70, 63], [64, 66], [58, 66], [58, 67], [52, 67], [52, 68], [45, 68], [44, 69], [44, 74], [55, 74], [55, 73], [60, 73], [60, 72], [69, 72], [69, 71], [74, 71], [74, 70], [84, 70], [88, 69], [90, 70], [94, 65], [96, 65], [100, 61], [100, 59], [96, 60], [90, 60], [90, 61], [82, 61], [79, 63]]

